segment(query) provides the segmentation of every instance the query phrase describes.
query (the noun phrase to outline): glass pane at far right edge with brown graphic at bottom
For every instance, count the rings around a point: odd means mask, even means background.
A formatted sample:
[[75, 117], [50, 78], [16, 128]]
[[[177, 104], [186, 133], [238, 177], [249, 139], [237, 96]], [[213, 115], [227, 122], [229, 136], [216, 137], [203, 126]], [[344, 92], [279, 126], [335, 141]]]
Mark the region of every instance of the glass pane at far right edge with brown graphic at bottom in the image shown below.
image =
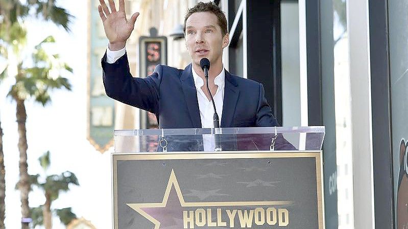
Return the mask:
[[[408, 2], [388, 1], [395, 228], [408, 226]], [[380, 93], [380, 92], [379, 92]]]

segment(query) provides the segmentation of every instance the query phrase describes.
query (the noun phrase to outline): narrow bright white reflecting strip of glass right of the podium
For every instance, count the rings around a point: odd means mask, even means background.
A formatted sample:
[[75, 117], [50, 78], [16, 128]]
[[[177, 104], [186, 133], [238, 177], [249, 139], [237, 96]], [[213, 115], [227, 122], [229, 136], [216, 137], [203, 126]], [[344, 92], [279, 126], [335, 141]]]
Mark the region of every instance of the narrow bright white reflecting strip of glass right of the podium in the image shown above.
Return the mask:
[[334, 100], [339, 229], [353, 223], [351, 92], [346, 1], [333, 0]]

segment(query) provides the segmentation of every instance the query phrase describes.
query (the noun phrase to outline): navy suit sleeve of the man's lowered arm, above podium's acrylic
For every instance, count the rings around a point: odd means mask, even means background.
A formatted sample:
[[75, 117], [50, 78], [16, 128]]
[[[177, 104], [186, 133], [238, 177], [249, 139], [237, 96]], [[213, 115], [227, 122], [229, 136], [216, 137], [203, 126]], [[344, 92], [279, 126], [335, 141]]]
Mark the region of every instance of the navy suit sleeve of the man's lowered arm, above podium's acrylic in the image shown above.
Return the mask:
[[265, 91], [263, 90], [262, 84], [259, 84], [259, 97], [258, 106], [256, 111], [256, 126], [270, 127], [278, 126], [279, 123], [276, 121], [272, 114], [271, 107], [265, 98]]

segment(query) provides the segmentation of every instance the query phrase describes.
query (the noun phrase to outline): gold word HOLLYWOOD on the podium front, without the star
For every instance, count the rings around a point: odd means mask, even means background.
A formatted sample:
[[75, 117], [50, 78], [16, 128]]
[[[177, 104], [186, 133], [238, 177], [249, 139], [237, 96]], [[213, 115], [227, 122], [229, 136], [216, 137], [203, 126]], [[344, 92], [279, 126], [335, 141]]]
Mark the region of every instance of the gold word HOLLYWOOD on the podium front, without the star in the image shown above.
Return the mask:
[[[276, 225], [287, 226], [289, 224], [289, 211], [276, 208], [255, 208], [253, 210], [222, 210], [217, 208], [217, 221], [212, 221], [215, 215], [214, 209], [199, 208], [195, 211], [183, 211], [184, 229], [201, 226], [228, 226], [234, 227], [234, 221], [239, 219], [241, 228], [252, 228], [252, 225]], [[227, 217], [225, 217], [225, 215]], [[224, 216], [224, 217], [223, 217]], [[223, 218], [227, 218], [223, 221]]]

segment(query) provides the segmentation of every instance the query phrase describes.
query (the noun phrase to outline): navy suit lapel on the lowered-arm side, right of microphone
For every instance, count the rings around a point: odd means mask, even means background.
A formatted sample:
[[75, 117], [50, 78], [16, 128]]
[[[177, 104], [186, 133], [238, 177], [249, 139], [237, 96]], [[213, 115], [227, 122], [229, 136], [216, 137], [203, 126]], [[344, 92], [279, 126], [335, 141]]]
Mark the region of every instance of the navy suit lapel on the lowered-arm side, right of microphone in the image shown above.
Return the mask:
[[239, 89], [237, 86], [238, 84], [232, 78], [231, 74], [225, 70], [224, 105], [223, 116], [221, 118], [222, 128], [233, 127], [232, 120], [239, 97]]

